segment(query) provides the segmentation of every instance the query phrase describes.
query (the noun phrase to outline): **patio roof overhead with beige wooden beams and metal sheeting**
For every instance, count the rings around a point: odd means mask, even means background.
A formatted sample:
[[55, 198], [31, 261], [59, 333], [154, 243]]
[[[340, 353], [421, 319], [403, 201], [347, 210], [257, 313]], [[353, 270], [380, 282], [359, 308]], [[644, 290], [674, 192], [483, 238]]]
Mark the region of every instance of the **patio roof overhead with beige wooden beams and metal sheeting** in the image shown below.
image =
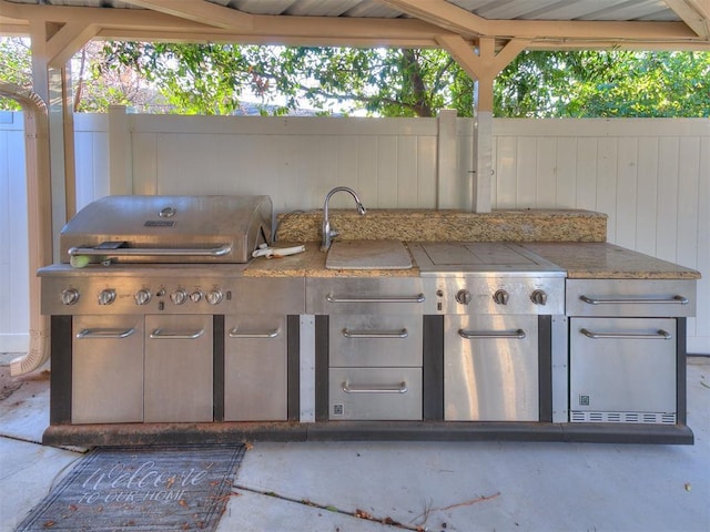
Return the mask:
[[460, 37], [493, 38], [496, 48], [710, 50], [709, 20], [710, 0], [0, 0], [0, 34], [54, 23], [60, 59], [87, 38], [426, 48]]

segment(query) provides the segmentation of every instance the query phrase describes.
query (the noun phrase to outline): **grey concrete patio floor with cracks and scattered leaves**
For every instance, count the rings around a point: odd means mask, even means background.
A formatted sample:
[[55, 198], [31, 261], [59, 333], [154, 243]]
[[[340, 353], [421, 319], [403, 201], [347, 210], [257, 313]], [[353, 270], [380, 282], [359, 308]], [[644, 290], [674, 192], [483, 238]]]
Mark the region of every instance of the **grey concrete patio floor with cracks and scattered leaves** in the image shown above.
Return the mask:
[[[0, 355], [0, 369], [11, 358]], [[41, 444], [48, 375], [17, 385], [0, 390], [1, 531], [14, 530], [82, 456]], [[707, 532], [708, 358], [688, 365], [688, 424], [694, 446], [254, 442], [217, 531]]]

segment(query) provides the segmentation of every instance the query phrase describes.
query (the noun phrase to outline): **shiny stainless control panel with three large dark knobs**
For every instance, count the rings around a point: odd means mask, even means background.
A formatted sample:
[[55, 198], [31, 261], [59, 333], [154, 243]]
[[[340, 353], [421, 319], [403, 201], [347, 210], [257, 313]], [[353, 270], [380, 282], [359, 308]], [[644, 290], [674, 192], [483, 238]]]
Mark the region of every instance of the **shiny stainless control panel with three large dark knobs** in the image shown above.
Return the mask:
[[[490, 277], [459, 275], [449, 277], [424, 278], [425, 314], [565, 314], [565, 279], [556, 277]], [[463, 304], [457, 295], [465, 290], [470, 301]], [[504, 290], [507, 303], [499, 304], [494, 299], [498, 290]], [[532, 293], [542, 290], [547, 298], [545, 304], [536, 304]]]

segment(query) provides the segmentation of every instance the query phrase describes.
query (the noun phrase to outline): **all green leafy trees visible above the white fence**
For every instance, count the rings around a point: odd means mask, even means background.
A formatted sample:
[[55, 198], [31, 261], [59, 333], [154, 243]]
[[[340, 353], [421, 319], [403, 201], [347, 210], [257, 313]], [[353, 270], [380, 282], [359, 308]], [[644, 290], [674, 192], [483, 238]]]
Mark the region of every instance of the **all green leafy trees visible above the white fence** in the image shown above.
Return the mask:
[[[28, 47], [0, 40], [0, 71], [29, 79]], [[473, 113], [474, 82], [443, 50], [90, 43], [77, 111], [434, 116]], [[8, 79], [10, 78], [10, 79]], [[22, 84], [22, 83], [20, 83]], [[496, 80], [496, 116], [710, 116], [710, 52], [524, 52]], [[4, 101], [0, 101], [2, 105]]]

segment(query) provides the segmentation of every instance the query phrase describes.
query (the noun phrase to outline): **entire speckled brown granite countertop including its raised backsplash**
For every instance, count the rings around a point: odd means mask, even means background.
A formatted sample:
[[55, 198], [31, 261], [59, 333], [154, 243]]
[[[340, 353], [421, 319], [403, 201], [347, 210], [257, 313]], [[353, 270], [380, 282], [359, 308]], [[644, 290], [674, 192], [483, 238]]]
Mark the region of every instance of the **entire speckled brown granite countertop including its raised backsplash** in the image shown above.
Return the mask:
[[[322, 211], [280, 216], [275, 247], [306, 243], [306, 252], [283, 258], [258, 258], [245, 277], [416, 277], [419, 269], [326, 269], [320, 250]], [[460, 211], [394, 209], [332, 211], [342, 239], [404, 242], [519, 242], [566, 269], [569, 278], [699, 279], [693, 269], [606, 243], [607, 216], [589, 211]]]

